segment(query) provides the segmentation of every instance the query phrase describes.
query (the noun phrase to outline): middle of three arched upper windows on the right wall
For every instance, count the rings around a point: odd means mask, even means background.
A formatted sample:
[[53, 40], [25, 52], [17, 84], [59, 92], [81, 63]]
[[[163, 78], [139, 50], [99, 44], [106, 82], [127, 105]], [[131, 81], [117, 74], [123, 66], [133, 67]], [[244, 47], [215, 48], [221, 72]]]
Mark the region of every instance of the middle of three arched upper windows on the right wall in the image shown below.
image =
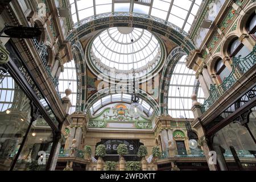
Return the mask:
[[251, 51], [244, 46], [238, 38], [234, 39], [233, 42], [230, 44], [229, 47], [229, 54], [231, 57], [238, 57], [241, 55], [241, 57], [245, 57], [249, 55]]

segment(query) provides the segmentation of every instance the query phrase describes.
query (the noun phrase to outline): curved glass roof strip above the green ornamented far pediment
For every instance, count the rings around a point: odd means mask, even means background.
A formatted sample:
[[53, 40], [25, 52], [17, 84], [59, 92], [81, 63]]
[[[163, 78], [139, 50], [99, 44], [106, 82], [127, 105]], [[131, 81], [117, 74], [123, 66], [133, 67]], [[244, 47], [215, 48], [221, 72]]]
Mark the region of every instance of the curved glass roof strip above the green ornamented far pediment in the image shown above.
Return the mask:
[[[92, 107], [90, 107], [90, 113], [92, 115], [98, 113], [98, 110], [103, 110], [106, 107], [111, 107], [113, 105], [116, 105], [118, 102], [126, 102], [130, 104], [131, 102], [131, 95], [130, 94], [112, 94], [110, 96], [106, 96], [98, 100], [93, 104]], [[114, 104], [113, 104], [114, 103]], [[150, 117], [153, 113], [153, 109], [150, 105], [147, 104], [146, 101], [140, 99], [139, 103], [143, 107], [144, 114], [146, 114], [148, 117]]]

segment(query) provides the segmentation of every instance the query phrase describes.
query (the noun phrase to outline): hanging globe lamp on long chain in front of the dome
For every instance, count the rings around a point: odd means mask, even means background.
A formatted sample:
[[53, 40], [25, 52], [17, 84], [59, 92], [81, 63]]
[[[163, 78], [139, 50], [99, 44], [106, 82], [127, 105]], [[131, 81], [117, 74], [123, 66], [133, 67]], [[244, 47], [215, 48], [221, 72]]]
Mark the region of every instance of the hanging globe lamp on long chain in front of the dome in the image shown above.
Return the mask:
[[[131, 47], [133, 48], [133, 32], [131, 32]], [[134, 52], [134, 48], [132, 49]], [[133, 59], [133, 55], [132, 55]], [[139, 104], [139, 93], [135, 92], [135, 69], [133, 59], [133, 93], [131, 93], [131, 106], [129, 108], [129, 114], [134, 118], [139, 118], [143, 113], [143, 107]]]

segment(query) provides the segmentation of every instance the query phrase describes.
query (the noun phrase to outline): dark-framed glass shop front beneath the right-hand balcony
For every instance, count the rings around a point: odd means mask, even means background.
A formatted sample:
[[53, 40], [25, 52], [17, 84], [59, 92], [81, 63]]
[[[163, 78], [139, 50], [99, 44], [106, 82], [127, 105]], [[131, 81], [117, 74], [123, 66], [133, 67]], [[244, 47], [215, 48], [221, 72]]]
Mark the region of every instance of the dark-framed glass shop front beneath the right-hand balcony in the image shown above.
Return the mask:
[[251, 86], [225, 109], [205, 130], [218, 168], [226, 170], [256, 169], [256, 87]]

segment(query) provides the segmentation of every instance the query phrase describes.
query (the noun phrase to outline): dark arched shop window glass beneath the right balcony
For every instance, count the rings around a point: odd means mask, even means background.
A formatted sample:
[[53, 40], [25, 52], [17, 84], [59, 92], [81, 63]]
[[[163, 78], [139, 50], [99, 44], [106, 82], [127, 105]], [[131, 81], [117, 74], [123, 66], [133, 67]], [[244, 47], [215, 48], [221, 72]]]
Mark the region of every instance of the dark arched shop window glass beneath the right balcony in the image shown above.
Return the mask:
[[[250, 127], [255, 135], [254, 112], [250, 114]], [[214, 135], [213, 149], [218, 154], [218, 164], [222, 170], [225, 168], [229, 170], [256, 168], [256, 144], [249, 130], [238, 122], [230, 123]]]

